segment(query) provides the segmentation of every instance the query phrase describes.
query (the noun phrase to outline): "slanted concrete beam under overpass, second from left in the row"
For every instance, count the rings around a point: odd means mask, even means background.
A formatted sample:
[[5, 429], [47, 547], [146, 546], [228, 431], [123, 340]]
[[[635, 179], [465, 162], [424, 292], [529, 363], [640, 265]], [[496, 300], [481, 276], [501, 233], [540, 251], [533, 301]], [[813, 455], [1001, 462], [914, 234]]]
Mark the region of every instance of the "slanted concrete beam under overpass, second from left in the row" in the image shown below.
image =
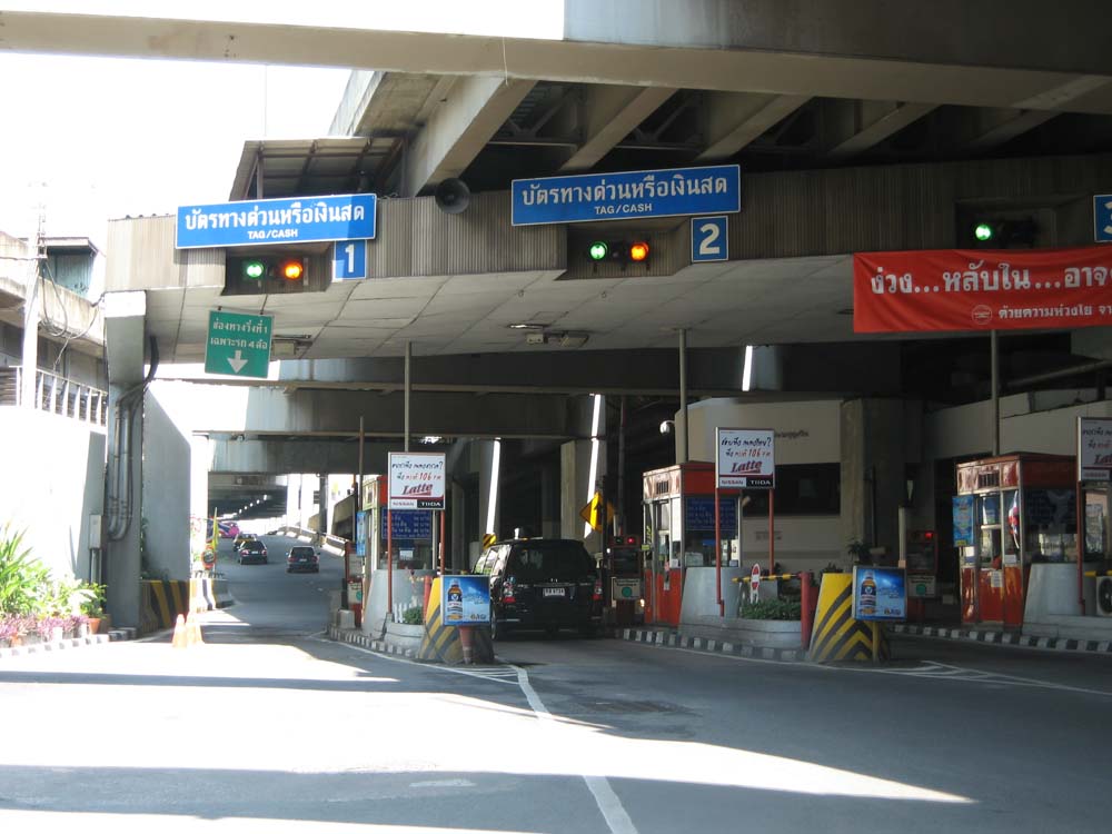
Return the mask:
[[583, 145], [559, 167], [562, 171], [583, 171], [672, 98], [674, 87], [595, 86], [583, 102]]

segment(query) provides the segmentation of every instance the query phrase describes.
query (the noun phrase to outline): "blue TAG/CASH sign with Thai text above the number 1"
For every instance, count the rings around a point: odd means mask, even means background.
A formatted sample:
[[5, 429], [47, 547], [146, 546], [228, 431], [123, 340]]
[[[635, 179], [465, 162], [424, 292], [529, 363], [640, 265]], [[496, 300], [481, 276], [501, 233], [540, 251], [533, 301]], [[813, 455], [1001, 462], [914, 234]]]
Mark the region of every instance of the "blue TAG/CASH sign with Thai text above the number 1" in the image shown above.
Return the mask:
[[178, 208], [178, 249], [375, 237], [373, 193], [242, 200]]

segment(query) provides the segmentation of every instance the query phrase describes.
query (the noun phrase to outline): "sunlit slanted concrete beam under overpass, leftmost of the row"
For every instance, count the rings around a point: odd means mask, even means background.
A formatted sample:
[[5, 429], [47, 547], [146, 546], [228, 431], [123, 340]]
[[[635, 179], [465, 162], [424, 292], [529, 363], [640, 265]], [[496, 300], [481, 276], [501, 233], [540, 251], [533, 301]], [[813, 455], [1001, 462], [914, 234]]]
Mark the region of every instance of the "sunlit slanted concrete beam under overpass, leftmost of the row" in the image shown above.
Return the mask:
[[480, 77], [455, 83], [406, 155], [403, 196], [463, 173], [533, 86], [532, 80]]

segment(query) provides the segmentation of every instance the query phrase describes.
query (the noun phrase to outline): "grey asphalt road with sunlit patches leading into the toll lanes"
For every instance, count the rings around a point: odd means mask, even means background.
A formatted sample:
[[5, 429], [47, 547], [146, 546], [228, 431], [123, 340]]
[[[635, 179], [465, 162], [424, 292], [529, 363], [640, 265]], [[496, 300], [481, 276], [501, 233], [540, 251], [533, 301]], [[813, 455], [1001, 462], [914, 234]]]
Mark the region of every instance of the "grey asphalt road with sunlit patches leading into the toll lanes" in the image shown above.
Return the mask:
[[287, 575], [267, 542], [270, 565], [221, 560], [240, 604], [203, 646], [0, 662], [0, 830], [1109, 830], [1109, 658], [906, 639], [826, 668], [567, 635], [446, 669], [326, 639], [339, 560]]

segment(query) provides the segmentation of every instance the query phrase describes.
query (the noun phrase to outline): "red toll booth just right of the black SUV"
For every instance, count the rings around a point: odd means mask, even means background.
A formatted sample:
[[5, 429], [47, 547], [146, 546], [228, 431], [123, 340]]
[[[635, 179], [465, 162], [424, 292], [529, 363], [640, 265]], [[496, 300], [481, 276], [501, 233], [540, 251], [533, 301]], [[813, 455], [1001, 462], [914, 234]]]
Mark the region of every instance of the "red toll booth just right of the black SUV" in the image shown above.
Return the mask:
[[[715, 565], [714, 464], [676, 464], [645, 473], [645, 622], [679, 625], [689, 569]], [[741, 565], [738, 495], [718, 500], [722, 564]]]

